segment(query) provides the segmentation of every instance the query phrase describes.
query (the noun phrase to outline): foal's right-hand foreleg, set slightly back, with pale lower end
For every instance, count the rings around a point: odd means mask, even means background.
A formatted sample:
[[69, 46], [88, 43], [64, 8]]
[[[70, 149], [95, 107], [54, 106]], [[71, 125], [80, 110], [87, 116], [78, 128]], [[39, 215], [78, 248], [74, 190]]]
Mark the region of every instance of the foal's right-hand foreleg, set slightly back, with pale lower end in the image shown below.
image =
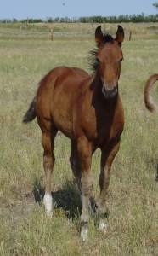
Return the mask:
[[101, 172], [99, 176], [100, 195], [97, 204], [97, 212], [99, 216], [99, 230], [107, 231], [106, 218], [108, 215], [108, 208], [106, 207], [106, 196], [110, 184], [110, 167], [119, 150], [120, 139], [116, 142], [110, 143], [108, 148], [102, 148], [101, 155]]

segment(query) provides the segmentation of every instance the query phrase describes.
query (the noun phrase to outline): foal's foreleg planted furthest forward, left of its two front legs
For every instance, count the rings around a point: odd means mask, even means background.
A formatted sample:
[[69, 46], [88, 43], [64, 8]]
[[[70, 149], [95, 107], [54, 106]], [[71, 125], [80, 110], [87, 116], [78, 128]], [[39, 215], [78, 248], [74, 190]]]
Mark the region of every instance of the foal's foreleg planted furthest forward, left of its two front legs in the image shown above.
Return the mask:
[[88, 205], [92, 195], [93, 178], [91, 173], [92, 147], [87, 138], [82, 136], [77, 140], [77, 150], [82, 167], [82, 215], [81, 215], [81, 238], [87, 239]]

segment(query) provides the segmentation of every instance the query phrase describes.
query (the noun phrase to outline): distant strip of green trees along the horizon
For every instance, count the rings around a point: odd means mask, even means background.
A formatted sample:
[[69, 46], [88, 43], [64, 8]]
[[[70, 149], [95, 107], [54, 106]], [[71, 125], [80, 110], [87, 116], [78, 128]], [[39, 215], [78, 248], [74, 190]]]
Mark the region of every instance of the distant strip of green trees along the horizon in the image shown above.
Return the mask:
[[24, 20], [17, 20], [17, 19], [3, 19], [0, 20], [3, 23], [54, 23], [54, 22], [65, 22], [65, 23], [73, 23], [73, 22], [81, 22], [81, 23], [121, 23], [121, 22], [158, 22], [158, 14], [156, 15], [119, 15], [119, 16], [89, 16], [89, 17], [80, 17], [80, 18], [60, 18], [60, 17], [49, 17], [45, 20], [42, 19], [24, 19]]

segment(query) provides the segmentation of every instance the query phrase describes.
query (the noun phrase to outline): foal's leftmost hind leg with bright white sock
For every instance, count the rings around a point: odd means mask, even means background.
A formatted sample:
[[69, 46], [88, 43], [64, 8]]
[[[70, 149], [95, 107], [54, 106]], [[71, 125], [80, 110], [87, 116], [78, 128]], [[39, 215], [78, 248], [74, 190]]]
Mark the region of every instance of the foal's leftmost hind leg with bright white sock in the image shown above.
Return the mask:
[[53, 215], [53, 204], [51, 195], [51, 174], [54, 169], [54, 137], [57, 130], [42, 131], [43, 167], [45, 172], [45, 195], [43, 198], [45, 210], [48, 216]]

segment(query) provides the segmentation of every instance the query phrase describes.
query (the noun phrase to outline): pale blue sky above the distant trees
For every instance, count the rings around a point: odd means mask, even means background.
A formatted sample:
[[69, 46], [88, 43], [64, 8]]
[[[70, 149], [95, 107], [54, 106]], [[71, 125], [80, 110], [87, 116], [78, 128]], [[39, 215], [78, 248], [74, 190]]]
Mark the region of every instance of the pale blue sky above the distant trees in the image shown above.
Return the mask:
[[[0, 0], [0, 19], [156, 14], [156, 0]], [[158, 13], [158, 10], [157, 10]]]

